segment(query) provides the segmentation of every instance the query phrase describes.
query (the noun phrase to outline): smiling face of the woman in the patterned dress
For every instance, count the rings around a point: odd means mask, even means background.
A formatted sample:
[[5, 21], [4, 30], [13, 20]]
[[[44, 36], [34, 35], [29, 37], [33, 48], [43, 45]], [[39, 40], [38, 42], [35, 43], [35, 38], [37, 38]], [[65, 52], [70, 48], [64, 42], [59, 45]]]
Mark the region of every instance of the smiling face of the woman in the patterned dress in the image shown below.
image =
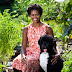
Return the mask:
[[32, 11], [31, 11], [31, 14], [30, 14], [30, 17], [31, 17], [33, 23], [38, 23], [38, 22], [40, 22], [40, 17], [41, 17], [41, 16], [40, 16], [38, 10], [32, 10]]

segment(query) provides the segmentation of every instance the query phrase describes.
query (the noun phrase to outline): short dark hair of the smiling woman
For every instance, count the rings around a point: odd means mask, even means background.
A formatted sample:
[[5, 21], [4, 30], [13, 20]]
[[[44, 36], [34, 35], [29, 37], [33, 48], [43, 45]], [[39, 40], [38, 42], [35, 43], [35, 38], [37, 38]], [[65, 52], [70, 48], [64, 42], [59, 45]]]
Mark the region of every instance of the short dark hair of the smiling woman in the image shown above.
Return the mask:
[[43, 8], [38, 4], [32, 4], [28, 7], [27, 12], [30, 15], [32, 10], [38, 10], [40, 16], [42, 15]]

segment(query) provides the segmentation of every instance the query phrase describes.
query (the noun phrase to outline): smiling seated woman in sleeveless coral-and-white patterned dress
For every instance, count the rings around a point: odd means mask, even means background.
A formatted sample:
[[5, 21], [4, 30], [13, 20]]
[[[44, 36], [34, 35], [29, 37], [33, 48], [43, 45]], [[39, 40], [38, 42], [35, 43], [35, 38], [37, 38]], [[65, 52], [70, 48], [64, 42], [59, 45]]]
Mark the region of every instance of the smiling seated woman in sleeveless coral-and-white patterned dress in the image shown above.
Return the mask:
[[[33, 23], [23, 29], [21, 54], [13, 60], [12, 65], [15, 72], [18, 72], [19, 70], [22, 72], [38, 72], [38, 60], [40, 55], [38, 40], [44, 34], [54, 37], [51, 27], [40, 21], [40, 17], [43, 12], [43, 9], [40, 5], [30, 5], [27, 12], [30, 15]], [[29, 42], [28, 48], [27, 41]], [[54, 56], [54, 59], [51, 60], [53, 64], [55, 64], [60, 57], [58, 50], [57, 52], [58, 54]]]

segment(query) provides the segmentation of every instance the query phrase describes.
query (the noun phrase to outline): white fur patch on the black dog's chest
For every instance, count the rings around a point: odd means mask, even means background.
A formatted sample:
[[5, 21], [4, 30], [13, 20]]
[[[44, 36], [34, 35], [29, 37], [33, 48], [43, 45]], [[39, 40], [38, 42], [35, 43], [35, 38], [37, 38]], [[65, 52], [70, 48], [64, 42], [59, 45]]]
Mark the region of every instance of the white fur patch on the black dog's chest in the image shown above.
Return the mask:
[[42, 52], [40, 54], [40, 66], [45, 72], [47, 72], [48, 58], [49, 54], [47, 52]]

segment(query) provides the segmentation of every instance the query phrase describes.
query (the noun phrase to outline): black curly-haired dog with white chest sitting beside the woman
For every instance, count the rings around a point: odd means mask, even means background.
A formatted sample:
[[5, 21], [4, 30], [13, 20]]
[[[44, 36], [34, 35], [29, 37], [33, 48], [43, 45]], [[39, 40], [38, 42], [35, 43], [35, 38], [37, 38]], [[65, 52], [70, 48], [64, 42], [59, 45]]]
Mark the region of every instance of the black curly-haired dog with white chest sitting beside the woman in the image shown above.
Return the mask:
[[52, 64], [53, 55], [57, 54], [54, 49], [54, 39], [49, 35], [40, 37], [38, 44], [40, 45], [40, 70], [39, 72], [61, 72], [63, 68], [63, 60], [60, 58], [56, 64]]

